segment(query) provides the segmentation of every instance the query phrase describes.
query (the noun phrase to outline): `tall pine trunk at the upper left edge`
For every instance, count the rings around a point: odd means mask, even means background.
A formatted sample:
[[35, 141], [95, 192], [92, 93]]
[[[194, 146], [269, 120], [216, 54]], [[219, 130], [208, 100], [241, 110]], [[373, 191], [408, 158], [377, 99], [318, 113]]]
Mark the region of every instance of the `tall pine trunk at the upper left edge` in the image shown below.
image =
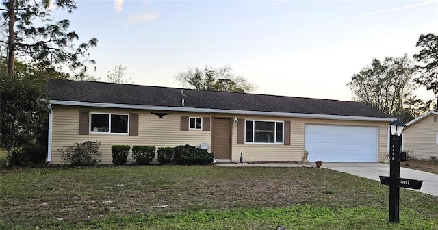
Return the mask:
[[15, 60], [15, 7], [14, 0], [8, 2], [8, 76], [11, 76], [14, 72], [14, 60]]

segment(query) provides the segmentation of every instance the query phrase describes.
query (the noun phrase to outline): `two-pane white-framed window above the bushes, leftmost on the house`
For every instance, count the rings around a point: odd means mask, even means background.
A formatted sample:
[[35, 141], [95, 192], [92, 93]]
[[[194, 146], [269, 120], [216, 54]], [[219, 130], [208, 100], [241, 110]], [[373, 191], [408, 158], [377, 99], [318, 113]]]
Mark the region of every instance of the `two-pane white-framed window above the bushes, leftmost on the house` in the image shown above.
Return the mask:
[[92, 133], [128, 133], [127, 114], [90, 114]]

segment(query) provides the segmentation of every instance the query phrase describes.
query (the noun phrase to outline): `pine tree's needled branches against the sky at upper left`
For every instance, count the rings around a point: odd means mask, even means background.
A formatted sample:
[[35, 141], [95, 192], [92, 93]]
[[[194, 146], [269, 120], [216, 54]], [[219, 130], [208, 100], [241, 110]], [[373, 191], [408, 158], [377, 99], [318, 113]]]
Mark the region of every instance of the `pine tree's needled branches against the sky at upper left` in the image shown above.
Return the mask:
[[73, 44], [79, 36], [68, 31], [70, 21], [55, 21], [51, 16], [50, 4], [56, 8], [73, 12], [76, 9], [73, 0], [3, 0], [1, 30], [5, 31], [5, 40], [1, 40], [2, 53], [8, 59], [7, 73], [12, 75], [16, 58], [22, 62], [40, 66], [61, 68], [66, 65], [70, 70], [86, 71], [89, 59], [88, 50], [96, 47], [97, 39]]

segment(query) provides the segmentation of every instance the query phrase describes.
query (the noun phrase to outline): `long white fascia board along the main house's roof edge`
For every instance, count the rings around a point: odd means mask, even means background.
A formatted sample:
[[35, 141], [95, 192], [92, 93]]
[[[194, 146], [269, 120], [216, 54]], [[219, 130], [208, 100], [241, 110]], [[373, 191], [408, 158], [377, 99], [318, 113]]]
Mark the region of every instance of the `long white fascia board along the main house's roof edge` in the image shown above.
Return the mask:
[[222, 109], [205, 109], [205, 108], [195, 108], [195, 107], [127, 105], [127, 104], [94, 103], [94, 102], [81, 102], [81, 101], [51, 100], [50, 102], [52, 103], [52, 105], [107, 107], [107, 108], [131, 109], [131, 110], [161, 110], [161, 111], [177, 111], [177, 112], [205, 112], [205, 113], [214, 113], [214, 114], [233, 114], [233, 115], [242, 114], [242, 115], [259, 115], [259, 116], [286, 116], [286, 117], [294, 117], [294, 118], [320, 118], [320, 119], [331, 119], [331, 120], [360, 120], [360, 121], [385, 121], [385, 122], [395, 120], [394, 118], [375, 118], [368, 116], [300, 114], [300, 113], [289, 113], [289, 112], [264, 112], [264, 111], [250, 111], [250, 110], [222, 110]]

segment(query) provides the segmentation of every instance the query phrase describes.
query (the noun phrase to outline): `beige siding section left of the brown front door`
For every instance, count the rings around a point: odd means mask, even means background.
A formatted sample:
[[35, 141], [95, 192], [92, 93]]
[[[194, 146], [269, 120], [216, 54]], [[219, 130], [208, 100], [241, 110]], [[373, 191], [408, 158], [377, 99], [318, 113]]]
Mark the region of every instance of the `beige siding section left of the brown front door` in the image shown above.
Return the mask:
[[[53, 108], [53, 133], [52, 133], [52, 159], [51, 164], [63, 164], [60, 151], [63, 146], [77, 142], [101, 141], [101, 164], [112, 164], [111, 146], [114, 144], [127, 144], [129, 146], [147, 145], [156, 148], [165, 146], [177, 146], [190, 144], [199, 146], [205, 142], [211, 149], [211, 131], [181, 131], [181, 116], [203, 116], [210, 114], [183, 114], [172, 112], [172, 114], [159, 118], [149, 111], [139, 110], [112, 110], [103, 108], [83, 108], [52, 106]], [[79, 135], [79, 110], [88, 110], [101, 113], [139, 113], [138, 136], [128, 134], [92, 134]], [[211, 124], [210, 124], [211, 125]], [[132, 161], [131, 154], [129, 160]]]

